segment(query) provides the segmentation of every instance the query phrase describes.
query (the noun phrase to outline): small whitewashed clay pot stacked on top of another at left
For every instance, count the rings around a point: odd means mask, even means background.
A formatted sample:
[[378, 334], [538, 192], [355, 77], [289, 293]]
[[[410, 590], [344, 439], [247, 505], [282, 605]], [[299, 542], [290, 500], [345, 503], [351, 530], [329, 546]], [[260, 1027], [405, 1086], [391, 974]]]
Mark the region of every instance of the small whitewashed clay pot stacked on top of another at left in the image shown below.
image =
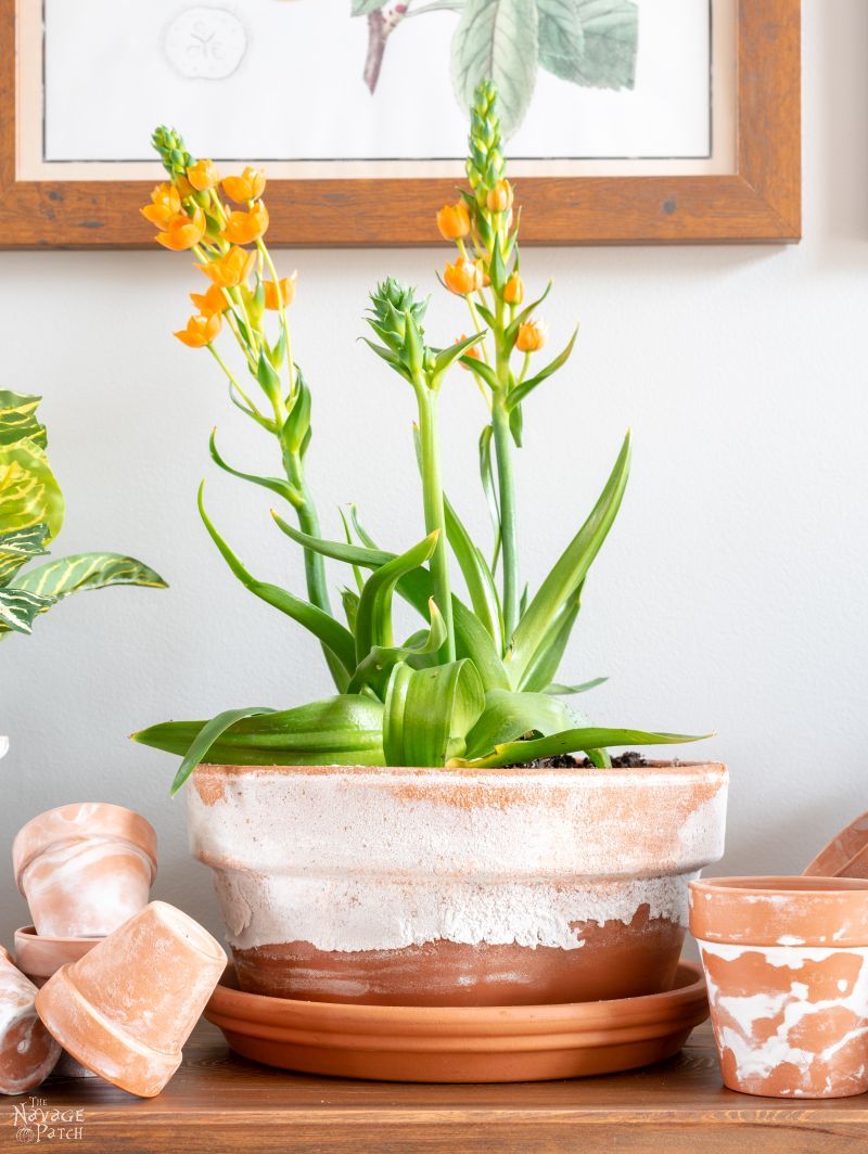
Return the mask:
[[81, 802], [28, 822], [12, 856], [39, 935], [103, 937], [148, 904], [157, 835], [122, 805]]

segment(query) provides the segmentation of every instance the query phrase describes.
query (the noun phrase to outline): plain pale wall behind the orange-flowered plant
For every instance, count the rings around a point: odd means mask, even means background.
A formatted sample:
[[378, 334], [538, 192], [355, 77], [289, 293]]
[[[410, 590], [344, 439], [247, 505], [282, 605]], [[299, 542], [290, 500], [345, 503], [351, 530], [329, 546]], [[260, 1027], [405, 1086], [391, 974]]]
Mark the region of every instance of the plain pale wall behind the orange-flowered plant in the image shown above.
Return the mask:
[[[611, 675], [593, 698], [603, 720], [718, 730], [696, 751], [732, 769], [719, 868], [732, 872], [799, 871], [868, 808], [868, 6], [807, 0], [805, 39], [799, 247], [538, 249], [523, 265], [530, 282], [555, 277], [555, 339], [582, 321], [570, 369], [526, 406], [526, 575], [539, 579], [571, 535], [631, 426], [631, 486], [564, 674]], [[390, 545], [420, 534], [409, 390], [354, 338], [377, 277], [433, 288], [443, 255], [282, 256], [300, 271], [297, 355], [315, 391], [313, 482], [332, 532], [334, 507], [353, 499]], [[175, 763], [126, 734], [329, 690], [315, 646], [234, 583], [199, 523], [204, 474], [254, 570], [299, 587], [267, 495], [208, 459], [215, 422], [233, 459], [256, 465], [257, 451], [216, 366], [169, 335], [194, 285], [185, 258], [162, 252], [0, 254], [1, 377], [45, 395], [69, 507], [59, 550], [130, 550], [172, 585], [82, 595], [2, 645], [3, 942], [27, 921], [8, 867], [15, 831], [76, 800], [141, 810], [160, 837], [157, 894], [218, 929], [184, 802], [167, 796]], [[465, 327], [461, 304], [437, 293], [433, 336]], [[481, 532], [481, 402], [461, 373], [448, 395], [449, 489]]]

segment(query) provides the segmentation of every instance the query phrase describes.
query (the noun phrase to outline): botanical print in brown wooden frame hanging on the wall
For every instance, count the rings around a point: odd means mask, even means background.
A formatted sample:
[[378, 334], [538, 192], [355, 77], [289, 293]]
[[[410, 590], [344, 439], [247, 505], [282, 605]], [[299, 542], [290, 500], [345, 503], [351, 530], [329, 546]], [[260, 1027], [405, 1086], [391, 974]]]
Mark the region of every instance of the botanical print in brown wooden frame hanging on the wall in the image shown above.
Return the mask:
[[137, 247], [157, 123], [269, 239], [420, 245], [497, 83], [538, 243], [800, 235], [800, 0], [0, 0], [7, 246]]

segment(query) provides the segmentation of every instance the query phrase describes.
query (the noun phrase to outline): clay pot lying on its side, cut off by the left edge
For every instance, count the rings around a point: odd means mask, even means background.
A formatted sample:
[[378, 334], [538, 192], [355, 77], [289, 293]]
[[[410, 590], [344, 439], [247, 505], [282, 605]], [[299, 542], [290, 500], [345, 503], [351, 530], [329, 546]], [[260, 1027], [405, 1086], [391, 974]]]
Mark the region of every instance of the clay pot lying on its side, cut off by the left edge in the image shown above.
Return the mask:
[[0, 946], [0, 1094], [27, 1094], [52, 1072], [60, 1047], [37, 1017], [37, 989]]

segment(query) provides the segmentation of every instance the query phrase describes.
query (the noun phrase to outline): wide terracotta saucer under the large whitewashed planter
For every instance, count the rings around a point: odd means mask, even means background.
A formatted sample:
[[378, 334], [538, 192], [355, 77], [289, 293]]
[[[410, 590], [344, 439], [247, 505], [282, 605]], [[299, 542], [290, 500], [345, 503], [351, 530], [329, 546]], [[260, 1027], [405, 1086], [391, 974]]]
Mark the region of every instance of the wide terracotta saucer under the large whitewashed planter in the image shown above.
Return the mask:
[[551, 1006], [367, 1006], [244, 994], [232, 968], [204, 1016], [245, 1058], [377, 1081], [546, 1081], [672, 1057], [709, 1017], [698, 966], [668, 994]]

